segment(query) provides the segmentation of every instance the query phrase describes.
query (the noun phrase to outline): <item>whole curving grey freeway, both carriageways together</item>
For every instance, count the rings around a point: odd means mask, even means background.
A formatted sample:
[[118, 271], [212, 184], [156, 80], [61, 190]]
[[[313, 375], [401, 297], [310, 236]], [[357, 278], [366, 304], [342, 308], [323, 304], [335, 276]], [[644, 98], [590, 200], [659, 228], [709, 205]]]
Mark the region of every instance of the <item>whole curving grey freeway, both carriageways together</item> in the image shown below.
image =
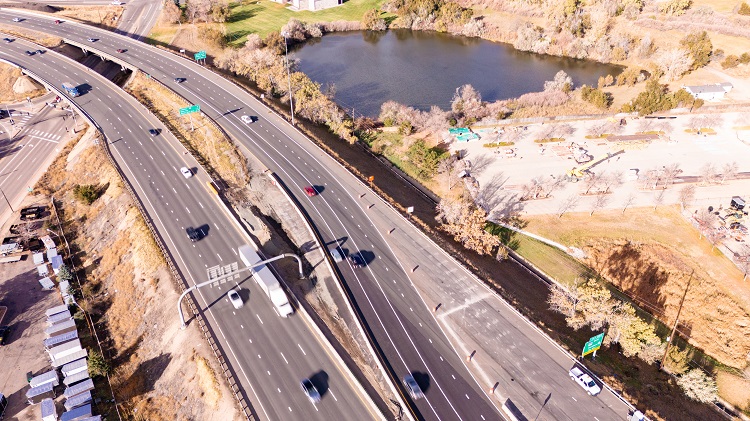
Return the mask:
[[[2, 10], [0, 20], [10, 22], [16, 15]], [[502, 417], [498, 402], [493, 402], [479, 386], [412, 283], [410, 270], [400, 256], [402, 251], [388, 240], [390, 225], [371, 216], [360, 200], [373, 193], [293, 126], [231, 82], [196, 63], [136, 40], [69, 22], [54, 25], [51, 18], [30, 14], [24, 14], [24, 21], [14, 24], [59, 36], [125, 67], [144, 71], [191, 103], [200, 104], [202, 112], [230, 138], [292, 187], [296, 200], [326, 245], [338, 246], [364, 259], [362, 268], [355, 269], [346, 260], [337, 267], [396, 386], [402, 388], [401, 379], [410, 374], [424, 389], [423, 399], [411, 399], [400, 389], [415, 418]], [[198, 165], [181, 153], [177, 140], [166, 130], [162, 130], [166, 141], [155, 142], [148, 135], [149, 129], [163, 129], [158, 120], [115, 85], [71, 60], [53, 53], [25, 56], [24, 48], [31, 47], [24, 44], [3, 46], [0, 58], [33, 70], [53, 86], [72, 80], [91, 88], [73, 102], [101, 126], [116, 161], [134, 185], [187, 283], [203, 281], [207, 267], [238, 260], [236, 249], [246, 240], [229, 222], [231, 216], [225, 214], [215, 196], [205, 189], [205, 182], [209, 181], [206, 174], [198, 171], [190, 179], [180, 175], [179, 168], [198, 169]], [[258, 119], [246, 124], [242, 115]], [[316, 186], [320, 194], [310, 197], [303, 191], [304, 186]], [[207, 225], [210, 234], [191, 243], [185, 238], [185, 228], [200, 225]], [[457, 266], [453, 261], [440, 264]], [[253, 288], [249, 278], [241, 281], [243, 288]], [[210, 289], [198, 297], [222, 346], [233, 358], [233, 370], [256, 415], [262, 419], [354, 419], [368, 413], [379, 417], [341, 372], [327, 348], [310, 334], [301, 317], [281, 319], [265, 302], [253, 306], [255, 315], [233, 310], [228, 302], [222, 302], [226, 301], [225, 295], [225, 290]], [[511, 323], [524, 322], [519, 318]], [[289, 350], [289, 355], [282, 350]], [[319, 373], [327, 377], [330, 397], [311, 404], [299, 390], [299, 380]], [[560, 377], [558, 374], [567, 376], [564, 371], [555, 374]], [[563, 411], [565, 417], [575, 419], [575, 408], [581, 405], [591, 407], [591, 413], [598, 411], [598, 403], [576, 402]], [[602, 418], [611, 414], [598, 413]]]

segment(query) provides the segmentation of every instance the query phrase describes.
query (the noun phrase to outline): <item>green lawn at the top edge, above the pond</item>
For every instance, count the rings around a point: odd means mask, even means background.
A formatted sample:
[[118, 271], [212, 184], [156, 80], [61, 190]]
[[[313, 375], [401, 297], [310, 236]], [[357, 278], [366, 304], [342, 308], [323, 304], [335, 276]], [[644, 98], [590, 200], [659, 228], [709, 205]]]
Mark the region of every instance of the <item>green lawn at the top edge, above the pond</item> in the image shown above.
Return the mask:
[[232, 45], [241, 45], [247, 35], [265, 37], [269, 32], [280, 30], [291, 18], [302, 22], [359, 21], [366, 11], [379, 7], [381, 3], [383, 0], [349, 0], [341, 6], [318, 12], [295, 12], [268, 0], [233, 3], [227, 19], [227, 39]]

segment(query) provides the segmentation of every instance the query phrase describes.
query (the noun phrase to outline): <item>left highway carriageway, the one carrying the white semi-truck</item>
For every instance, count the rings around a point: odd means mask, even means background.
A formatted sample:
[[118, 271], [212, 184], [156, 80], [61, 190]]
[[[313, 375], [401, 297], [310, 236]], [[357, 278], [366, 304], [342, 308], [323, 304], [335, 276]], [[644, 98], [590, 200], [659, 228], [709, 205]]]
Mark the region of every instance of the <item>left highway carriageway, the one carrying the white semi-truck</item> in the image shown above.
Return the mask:
[[[79, 86], [81, 95], [73, 101], [104, 131], [112, 154], [186, 281], [190, 285], [202, 282], [208, 267], [239, 261], [236, 249], [247, 240], [208, 191], [208, 176], [190, 155], [183, 154], [182, 146], [156, 117], [84, 66], [54, 52], [27, 56], [24, 52], [28, 49], [38, 47], [22, 40], [2, 44], [0, 57], [36, 72], [55, 86], [73, 81]], [[152, 128], [161, 129], [161, 134], [150, 136]], [[183, 166], [195, 175], [183, 177], [179, 171]], [[185, 233], [189, 226], [200, 228], [205, 237], [191, 242]], [[226, 299], [228, 286], [233, 285], [200, 290], [197, 298], [259, 419], [380, 418], [305, 318], [298, 314], [286, 319], [277, 316], [265, 294], [248, 277], [234, 285], [241, 288], [245, 301], [243, 308], [235, 310]], [[305, 377], [313, 377], [322, 394], [317, 404], [301, 390], [300, 380]]]

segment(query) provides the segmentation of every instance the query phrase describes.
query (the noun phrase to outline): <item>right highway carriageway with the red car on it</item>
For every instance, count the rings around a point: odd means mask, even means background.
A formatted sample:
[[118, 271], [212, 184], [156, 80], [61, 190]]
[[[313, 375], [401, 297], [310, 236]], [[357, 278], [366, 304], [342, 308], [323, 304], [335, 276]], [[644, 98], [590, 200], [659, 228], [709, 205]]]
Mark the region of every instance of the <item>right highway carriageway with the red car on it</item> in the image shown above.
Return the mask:
[[[0, 12], [0, 19], [12, 17], [12, 13]], [[367, 260], [361, 270], [353, 271], [348, 264], [339, 264], [339, 268], [395, 375], [400, 379], [413, 373], [424, 389], [426, 398], [414, 402], [419, 417], [500, 417], [411, 285], [408, 269], [401, 266], [386, 239], [388, 234], [369, 220], [358, 196], [350, 194], [361, 185], [350, 176], [337, 174], [337, 164], [319, 148], [266, 111], [251, 95], [187, 60], [131, 39], [67, 22], [54, 25], [49, 19], [29, 17], [20, 25], [117, 56], [200, 104], [205, 114], [292, 186], [327, 243], [338, 243]], [[90, 43], [87, 39], [92, 33], [99, 39]], [[117, 54], [115, 50], [121, 48], [127, 52]], [[175, 83], [176, 77], [186, 81]], [[259, 120], [245, 125], [240, 120], [243, 114]], [[307, 185], [320, 187], [321, 194], [308, 198], [301, 190]]]

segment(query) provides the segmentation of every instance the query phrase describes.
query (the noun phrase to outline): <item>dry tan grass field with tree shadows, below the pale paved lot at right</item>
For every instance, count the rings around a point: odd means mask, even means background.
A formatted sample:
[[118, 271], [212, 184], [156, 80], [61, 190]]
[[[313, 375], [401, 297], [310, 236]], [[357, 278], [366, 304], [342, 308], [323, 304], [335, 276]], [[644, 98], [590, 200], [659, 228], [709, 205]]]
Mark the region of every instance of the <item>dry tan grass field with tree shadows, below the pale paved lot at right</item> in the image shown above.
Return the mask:
[[586, 251], [586, 263], [667, 323], [695, 270], [680, 332], [724, 364], [742, 368], [750, 349], [750, 287], [739, 269], [673, 207], [527, 216], [527, 230]]

